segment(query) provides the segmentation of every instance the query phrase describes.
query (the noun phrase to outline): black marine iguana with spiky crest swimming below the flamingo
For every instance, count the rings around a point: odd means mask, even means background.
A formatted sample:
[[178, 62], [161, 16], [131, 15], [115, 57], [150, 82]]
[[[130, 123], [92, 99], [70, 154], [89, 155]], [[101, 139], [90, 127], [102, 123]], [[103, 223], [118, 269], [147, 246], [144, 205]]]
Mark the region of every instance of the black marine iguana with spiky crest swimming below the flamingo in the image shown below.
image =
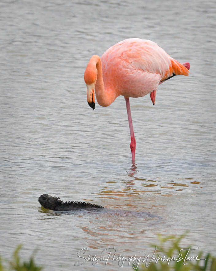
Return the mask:
[[46, 209], [53, 211], [73, 211], [86, 208], [104, 208], [103, 206], [82, 202], [82, 201], [66, 201], [60, 200], [59, 197], [53, 197], [43, 194], [38, 198], [39, 203]]

